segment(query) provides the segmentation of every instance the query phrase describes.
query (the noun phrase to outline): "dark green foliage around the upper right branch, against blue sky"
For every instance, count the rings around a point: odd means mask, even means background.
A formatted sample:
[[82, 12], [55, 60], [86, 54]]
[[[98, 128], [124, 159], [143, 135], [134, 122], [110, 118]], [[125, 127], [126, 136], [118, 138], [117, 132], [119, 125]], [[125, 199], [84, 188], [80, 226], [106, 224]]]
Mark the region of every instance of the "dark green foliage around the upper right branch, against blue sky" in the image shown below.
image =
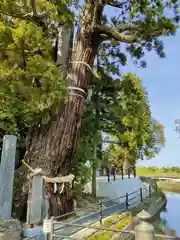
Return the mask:
[[[128, 63], [129, 57], [135, 65], [146, 67], [144, 56], [151, 51], [161, 58], [165, 57], [163, 41], [159, 37], [176, 33], [180, 19], [178, 0], [106, 1], [106, 5], [116, 7], [113, 16], [104, 16], [104, 23], [111, 26], [107, 34], [112, 36], [111, 41], [102, 45], [108, 71], [120, 73], [121, 66]], [[116, 36], [112, 30], [117, 30]], [[109, 67], [109, 64], [114, 67]]]

